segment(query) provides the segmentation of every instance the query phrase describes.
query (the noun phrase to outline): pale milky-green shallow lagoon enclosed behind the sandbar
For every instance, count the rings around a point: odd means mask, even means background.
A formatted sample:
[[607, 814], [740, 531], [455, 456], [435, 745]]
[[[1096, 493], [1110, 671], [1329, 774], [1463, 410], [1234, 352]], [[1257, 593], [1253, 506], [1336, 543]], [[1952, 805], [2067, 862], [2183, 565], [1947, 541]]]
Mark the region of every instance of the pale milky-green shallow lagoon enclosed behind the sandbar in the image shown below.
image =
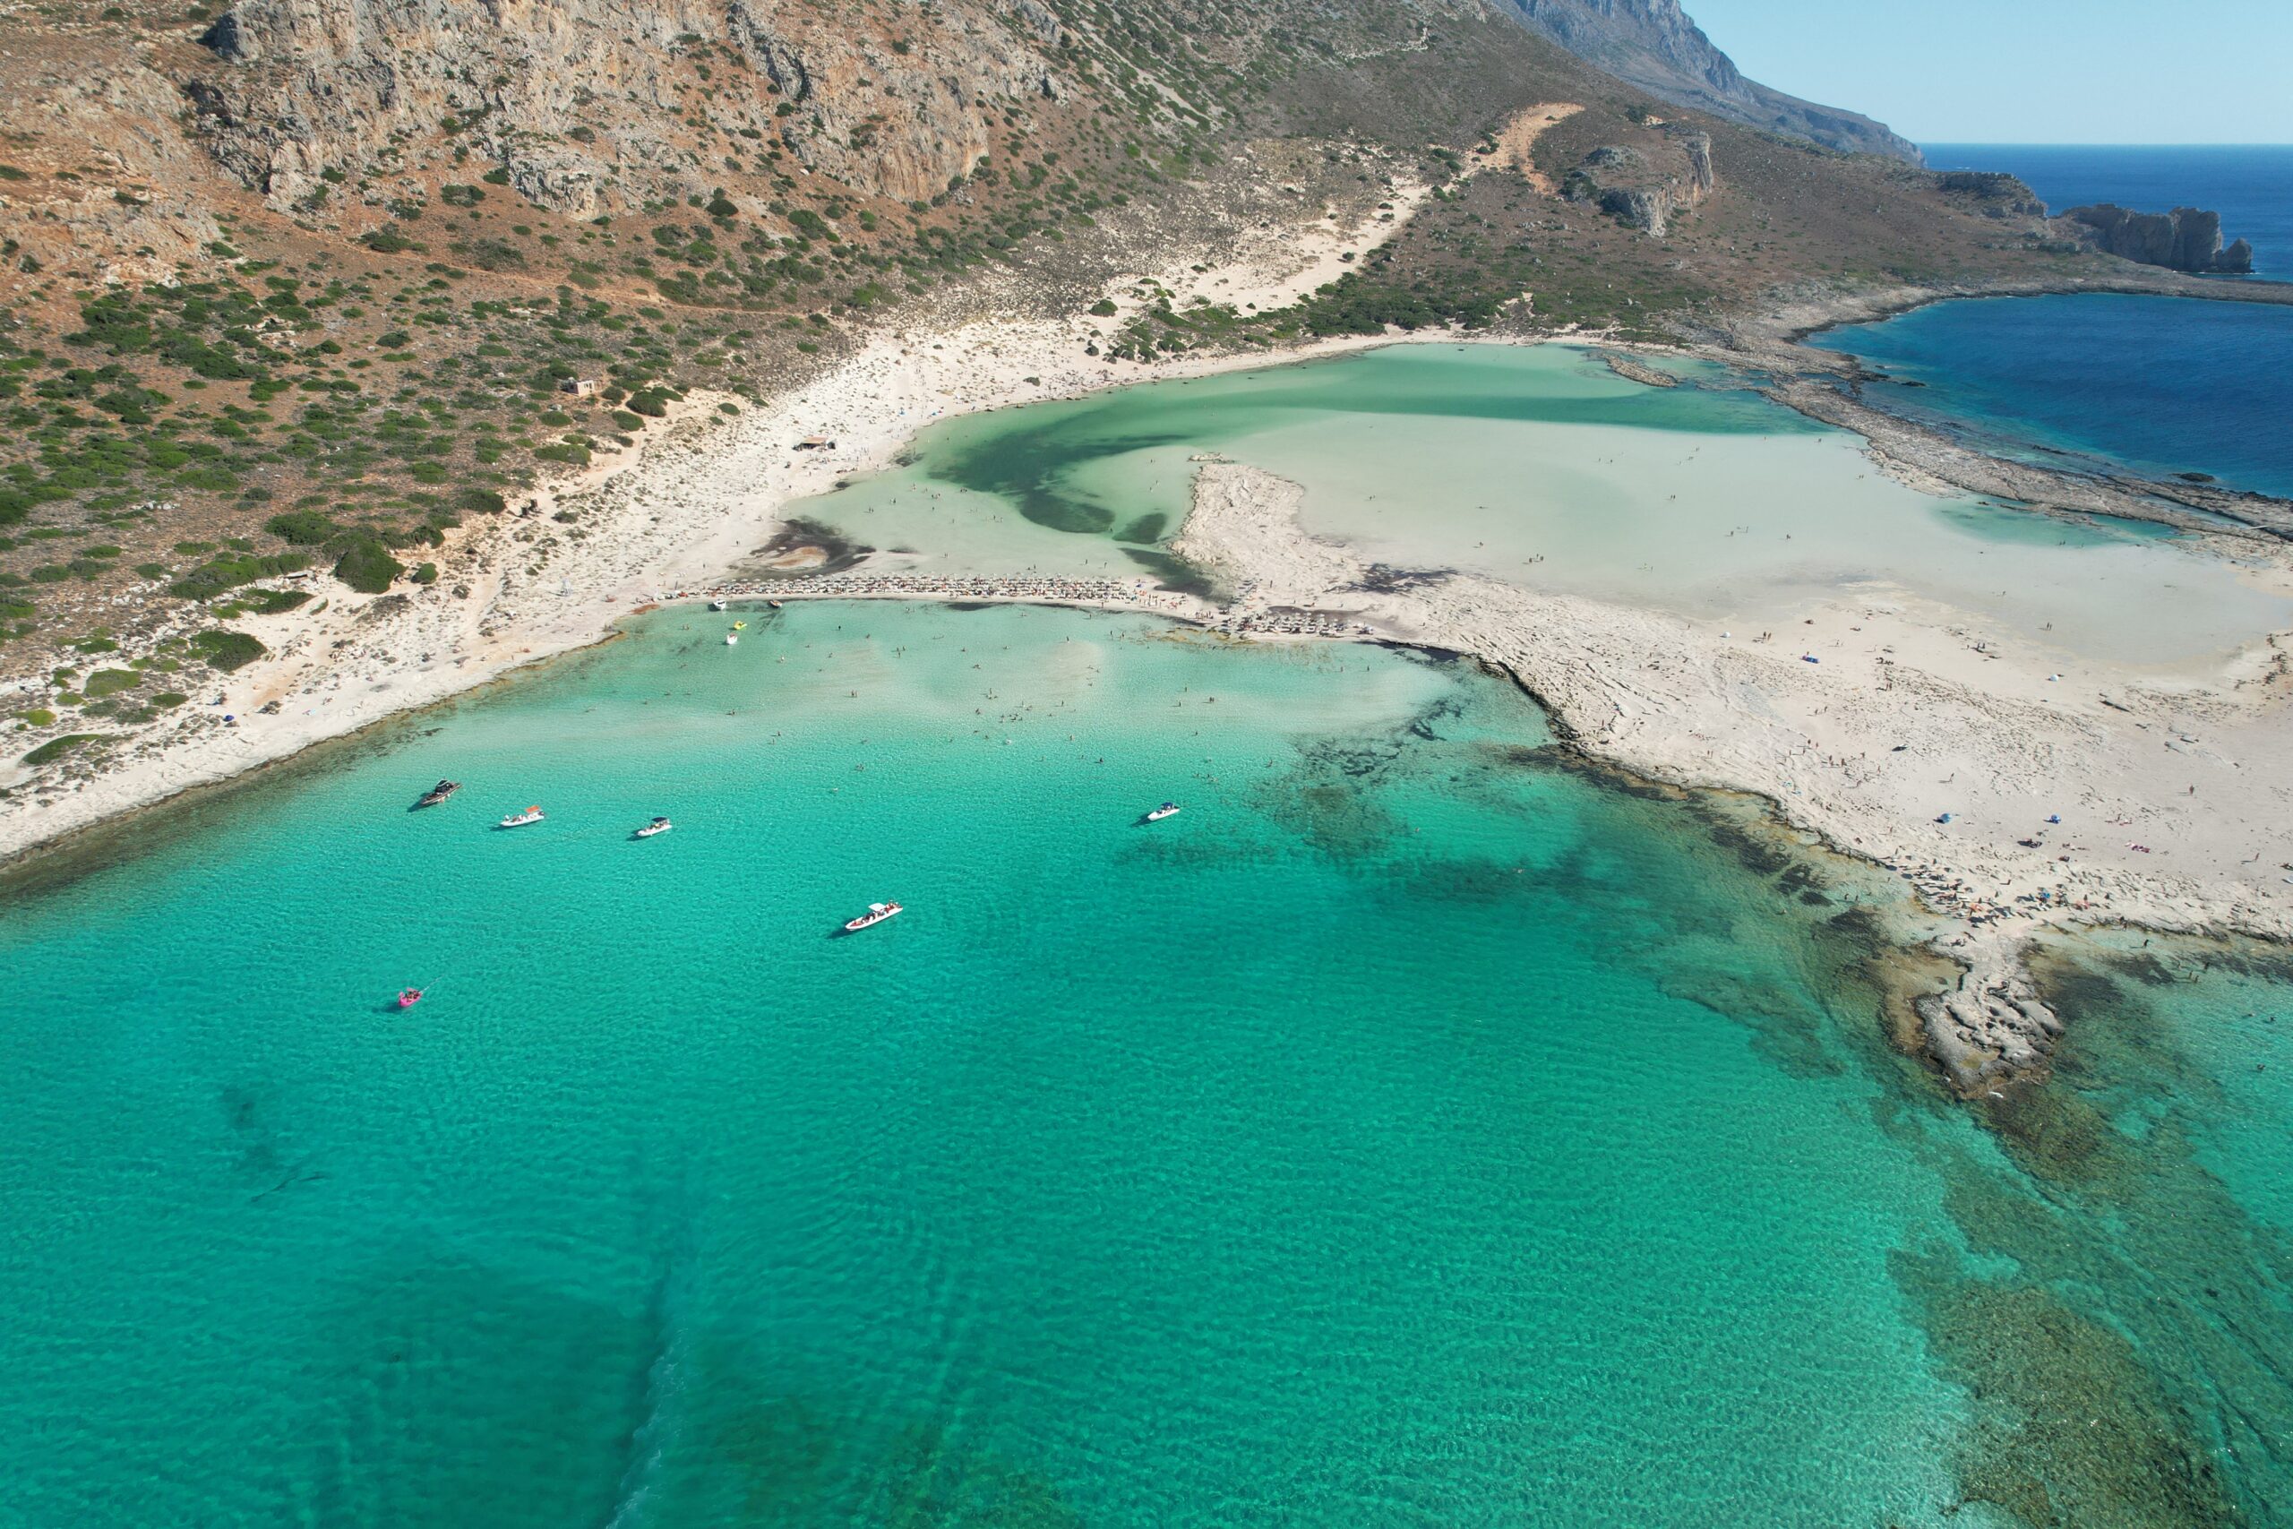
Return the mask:
[[1390, 346], [977, 415], [800, 513], [917, 566], [1156, 578], [1202, 452], [1302, 484], [1307, 530], [1371, 559], [1697, 619], [1917, 598], [2126, 662], [2293, 619], [2149, 527], [1935, 500], [1752, 392], [1644, 387], [1571, 346]]

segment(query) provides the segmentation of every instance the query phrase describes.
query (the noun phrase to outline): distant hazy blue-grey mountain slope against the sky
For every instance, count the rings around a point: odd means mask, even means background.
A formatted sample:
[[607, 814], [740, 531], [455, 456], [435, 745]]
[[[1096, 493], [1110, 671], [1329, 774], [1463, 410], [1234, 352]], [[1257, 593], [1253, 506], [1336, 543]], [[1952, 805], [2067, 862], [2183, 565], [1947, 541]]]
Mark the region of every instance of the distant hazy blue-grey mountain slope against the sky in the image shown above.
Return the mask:
[[1885, 124], [1747, 80], [1678, 0], [1504, 0], [1532, 32], [1676, 105], [1848, 154], [1919, 163], [1919, 147]]

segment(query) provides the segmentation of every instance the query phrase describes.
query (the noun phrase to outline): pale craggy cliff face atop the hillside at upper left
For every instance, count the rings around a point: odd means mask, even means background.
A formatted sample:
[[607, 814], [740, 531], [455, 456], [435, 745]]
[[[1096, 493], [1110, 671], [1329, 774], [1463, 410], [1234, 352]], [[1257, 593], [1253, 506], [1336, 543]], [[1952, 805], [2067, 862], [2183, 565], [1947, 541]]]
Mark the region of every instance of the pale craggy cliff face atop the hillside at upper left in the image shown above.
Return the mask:
[[202, 39], [193, 119], [280, 211], [392, 172], [440, 126], [470, 179], [592, 215], [706, 195], [727, 160], [784, 147], [862, 195], [922, 199], [988, 151], [1002, 101], [1057, 101], [1057, 18], [846, 25], [780, 0], [243, 0]]

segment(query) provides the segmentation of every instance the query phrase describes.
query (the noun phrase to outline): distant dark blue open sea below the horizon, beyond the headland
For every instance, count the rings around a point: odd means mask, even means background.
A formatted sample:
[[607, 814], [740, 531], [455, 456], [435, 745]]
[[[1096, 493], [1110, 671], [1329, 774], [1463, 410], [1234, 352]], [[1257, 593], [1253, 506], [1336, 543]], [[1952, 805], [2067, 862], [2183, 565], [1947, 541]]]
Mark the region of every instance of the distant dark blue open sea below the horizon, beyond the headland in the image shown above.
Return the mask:
[[2004, 170], [2057, 213], [2116, 202], [2201, 206], [2254, 245], [2254, 275], [2293, 270], [2293, 144], [1926, 144], [1935, 170]]

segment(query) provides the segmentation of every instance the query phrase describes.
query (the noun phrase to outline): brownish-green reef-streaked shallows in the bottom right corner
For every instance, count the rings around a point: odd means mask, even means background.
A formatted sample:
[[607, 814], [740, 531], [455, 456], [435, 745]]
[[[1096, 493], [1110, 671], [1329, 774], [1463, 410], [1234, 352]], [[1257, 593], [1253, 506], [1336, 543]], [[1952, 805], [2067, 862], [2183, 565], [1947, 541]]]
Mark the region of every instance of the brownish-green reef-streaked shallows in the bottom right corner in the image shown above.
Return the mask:
[[2160, 1009], [2220, 954], [2048, 942], [2055, 1075], [1977, 1107], [2006, 1162], [1926, 1135], [1970, 1256], [1896, 1277], [1977, 1398], [1965, 1497], [2034, 1529], [2293, 1522], [2293, 1238], [2213, 1171], [2231, 1105]]

